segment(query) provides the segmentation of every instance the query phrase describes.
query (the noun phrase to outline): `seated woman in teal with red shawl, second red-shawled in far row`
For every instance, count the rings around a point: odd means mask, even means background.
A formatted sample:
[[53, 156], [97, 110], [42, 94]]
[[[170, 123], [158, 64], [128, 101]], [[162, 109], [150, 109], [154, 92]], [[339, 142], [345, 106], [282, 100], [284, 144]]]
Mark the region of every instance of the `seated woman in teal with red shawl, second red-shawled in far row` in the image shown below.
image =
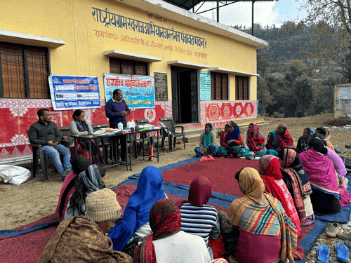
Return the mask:
[[278, 152], [282, 149], [294, 149], [293, 138], [285, 124], [279, 124], [277, 130], [273, 130], [268, 134], [265, 147], [270, 154], [276, 157], [278, 157]]

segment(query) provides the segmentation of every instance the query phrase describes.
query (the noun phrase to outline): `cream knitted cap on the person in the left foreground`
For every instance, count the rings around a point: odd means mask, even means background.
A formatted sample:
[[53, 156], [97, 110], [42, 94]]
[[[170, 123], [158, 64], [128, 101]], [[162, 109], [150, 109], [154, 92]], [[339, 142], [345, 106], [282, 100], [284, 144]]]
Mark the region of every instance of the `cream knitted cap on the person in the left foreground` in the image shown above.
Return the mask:
[[108, 188], [93, 191], [86, 197], [86, 217], [103, 222], [117, 220], [121, 216], [121, 206], [116, 194]]

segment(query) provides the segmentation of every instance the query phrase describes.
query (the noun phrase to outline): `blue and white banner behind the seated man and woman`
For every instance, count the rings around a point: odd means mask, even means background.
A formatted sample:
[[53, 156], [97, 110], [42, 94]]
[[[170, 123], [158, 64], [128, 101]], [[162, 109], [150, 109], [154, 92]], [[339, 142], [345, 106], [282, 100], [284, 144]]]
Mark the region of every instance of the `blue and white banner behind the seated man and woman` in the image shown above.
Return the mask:
[[100, 108], [100, 86], [97, 76], [50, 75], [53, 109]]

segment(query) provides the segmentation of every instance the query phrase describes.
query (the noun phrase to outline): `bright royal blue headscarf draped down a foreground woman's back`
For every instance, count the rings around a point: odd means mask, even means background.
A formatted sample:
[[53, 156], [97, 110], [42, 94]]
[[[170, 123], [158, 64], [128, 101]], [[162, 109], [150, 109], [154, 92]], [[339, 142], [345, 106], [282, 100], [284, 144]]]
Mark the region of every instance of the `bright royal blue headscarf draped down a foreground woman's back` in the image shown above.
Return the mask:
[[129, 198], [123, 219], [108, 234], [112, 239], [114, 250], [123, 251], [135, 231], [149, 222], [152, 205], [165, 198], [162, 183], [159, 168], [147, 166], [140, 173], [138, 186]]

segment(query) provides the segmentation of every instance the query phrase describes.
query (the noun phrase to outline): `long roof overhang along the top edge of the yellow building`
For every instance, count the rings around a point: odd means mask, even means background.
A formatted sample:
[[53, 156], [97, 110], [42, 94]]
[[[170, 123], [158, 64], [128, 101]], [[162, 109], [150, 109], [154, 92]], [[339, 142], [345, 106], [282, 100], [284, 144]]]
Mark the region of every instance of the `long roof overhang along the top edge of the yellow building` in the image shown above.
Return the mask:
[[267, 46], [269, 46], [268, 42], [264, 41], [263, 39], [258, 39], [256, 36], [251, 36], [250, 34], [241, 32], [233, 27], [228, 27], [227, 25], [220, 24], [214, 20], [204, 18], [201, 15], [186, 11], [183, 8], [173, 6], [172, 4], [168, 4], [162, 0], [116, 1], [120, 1], [122, 4], [133, 6], [148, 13], [154, 13], [155, 15], [159, 15], [169, 20], [180, 21], [187, 26], [190, 25], [191, 27], [202, 29], [206, 32], [211, 32], [241, 43], [246, 43], [247, 45], [254, 46], [256, 48], [267, 48]]

